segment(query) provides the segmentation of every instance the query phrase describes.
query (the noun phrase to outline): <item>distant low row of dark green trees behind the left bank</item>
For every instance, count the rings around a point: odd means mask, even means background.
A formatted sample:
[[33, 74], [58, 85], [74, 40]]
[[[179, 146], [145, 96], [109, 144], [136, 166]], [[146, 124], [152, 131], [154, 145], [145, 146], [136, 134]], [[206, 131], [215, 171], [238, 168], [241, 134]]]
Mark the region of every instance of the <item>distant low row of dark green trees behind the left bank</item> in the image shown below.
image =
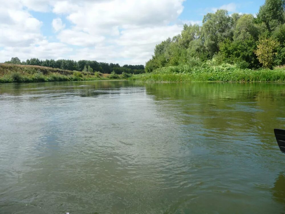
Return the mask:
[[22, 65], [38, 65], [45, 66], [51, 68], [60, 68], [63, 70], [78, 70], [85, 72], [101, 72], [104, 74], [110, 74], [111, 72], [115, 72], [116, 74], [125, 73], [134, 73], [141, 74], [144, 73], [144, 65], [124, 65], [120, 66], [118, 63], [106, 63], [106, 62], [97, 62], [95, 60], [39, 60], [38, 58], [27, 59], [26, 61], [22, 61], [18, 57], [12, 57], [10, 61], [6, 61], [5, 63], [10, 64], [22, 64]]

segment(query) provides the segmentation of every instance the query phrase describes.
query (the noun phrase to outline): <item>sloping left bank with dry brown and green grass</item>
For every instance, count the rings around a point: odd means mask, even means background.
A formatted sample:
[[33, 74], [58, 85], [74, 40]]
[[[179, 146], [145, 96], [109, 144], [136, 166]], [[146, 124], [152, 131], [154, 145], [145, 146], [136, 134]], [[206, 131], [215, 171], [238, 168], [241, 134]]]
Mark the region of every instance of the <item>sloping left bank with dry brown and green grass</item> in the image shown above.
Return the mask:
[[56, 68], [0, 64], [0, 83], [123, 79], [127, 75], [89, 73]]

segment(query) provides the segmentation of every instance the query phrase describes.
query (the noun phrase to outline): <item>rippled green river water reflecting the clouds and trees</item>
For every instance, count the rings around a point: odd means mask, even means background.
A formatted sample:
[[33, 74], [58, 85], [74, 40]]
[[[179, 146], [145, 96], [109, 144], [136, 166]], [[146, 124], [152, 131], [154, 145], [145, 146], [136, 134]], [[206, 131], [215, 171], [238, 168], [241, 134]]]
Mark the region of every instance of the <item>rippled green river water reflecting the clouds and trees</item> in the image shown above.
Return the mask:
[[284, 213], [285, 84], [0, 84], [0, 213]]

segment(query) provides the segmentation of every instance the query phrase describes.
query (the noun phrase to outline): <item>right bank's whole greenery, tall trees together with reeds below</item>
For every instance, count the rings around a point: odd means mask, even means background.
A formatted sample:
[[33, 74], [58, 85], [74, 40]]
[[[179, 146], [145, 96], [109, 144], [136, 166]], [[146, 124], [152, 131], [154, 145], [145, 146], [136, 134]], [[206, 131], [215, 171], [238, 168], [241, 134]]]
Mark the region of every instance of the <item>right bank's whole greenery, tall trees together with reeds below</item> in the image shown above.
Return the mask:
[[285, 81], [285, 0], [266, 0], [257, 13], [204, 16], [202, 26], [156, 45], [139, 81]]

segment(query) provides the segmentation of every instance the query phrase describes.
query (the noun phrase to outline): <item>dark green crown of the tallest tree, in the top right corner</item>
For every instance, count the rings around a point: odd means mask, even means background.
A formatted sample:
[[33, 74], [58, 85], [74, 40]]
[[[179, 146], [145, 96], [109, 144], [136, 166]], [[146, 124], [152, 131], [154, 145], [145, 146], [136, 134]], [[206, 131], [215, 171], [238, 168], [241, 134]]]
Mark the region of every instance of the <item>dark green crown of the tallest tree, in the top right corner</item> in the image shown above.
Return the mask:
[[267, 29], [272, 32], [274, 29], [285, 23], [285, 0], [266, 0], [258, 11], [257, 19], [264, 22]]

